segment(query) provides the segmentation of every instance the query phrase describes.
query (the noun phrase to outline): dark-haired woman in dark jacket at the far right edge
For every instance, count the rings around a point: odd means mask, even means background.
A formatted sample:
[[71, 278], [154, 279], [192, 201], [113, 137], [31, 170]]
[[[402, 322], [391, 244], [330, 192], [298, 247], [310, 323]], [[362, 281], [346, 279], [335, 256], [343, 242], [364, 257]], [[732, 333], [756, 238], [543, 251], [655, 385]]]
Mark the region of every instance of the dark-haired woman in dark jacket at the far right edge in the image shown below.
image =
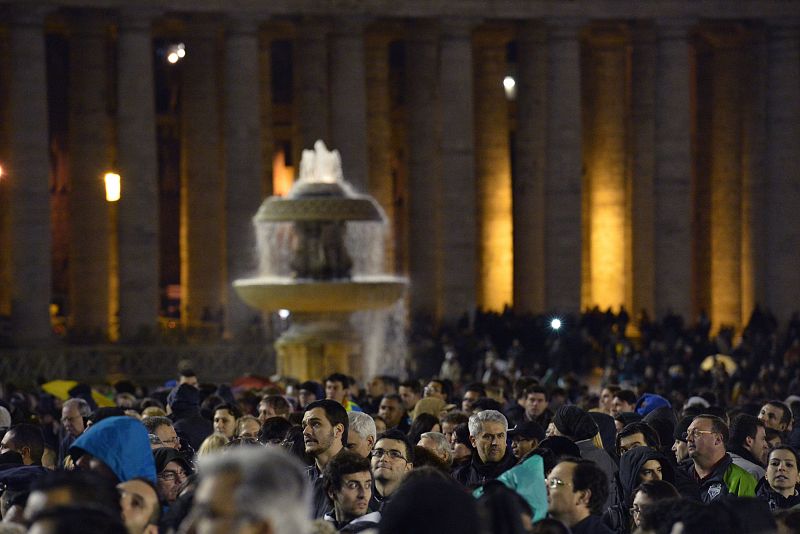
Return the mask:
[[797, 451], [789, 445], [778, 445], [769, 453], [767, 474], [758, 481], [756, 497], [766, 501], [773, 512], [800, 504], [798, 460]]

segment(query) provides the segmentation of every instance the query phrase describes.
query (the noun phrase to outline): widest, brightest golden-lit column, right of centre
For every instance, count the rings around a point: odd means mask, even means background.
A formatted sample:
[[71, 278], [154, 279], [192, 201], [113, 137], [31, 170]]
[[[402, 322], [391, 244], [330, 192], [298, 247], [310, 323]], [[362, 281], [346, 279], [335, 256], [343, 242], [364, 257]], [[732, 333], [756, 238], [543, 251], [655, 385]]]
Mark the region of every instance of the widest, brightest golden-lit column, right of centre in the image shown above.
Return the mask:
[[616, 308], [626, 302], [629, 272], [626, 242], [627, 152], [626, 42], [616, 28], [598, 28], [590, 37], [590, 79], [586, 85], [584, 195], [589, 269], [585, 306]]

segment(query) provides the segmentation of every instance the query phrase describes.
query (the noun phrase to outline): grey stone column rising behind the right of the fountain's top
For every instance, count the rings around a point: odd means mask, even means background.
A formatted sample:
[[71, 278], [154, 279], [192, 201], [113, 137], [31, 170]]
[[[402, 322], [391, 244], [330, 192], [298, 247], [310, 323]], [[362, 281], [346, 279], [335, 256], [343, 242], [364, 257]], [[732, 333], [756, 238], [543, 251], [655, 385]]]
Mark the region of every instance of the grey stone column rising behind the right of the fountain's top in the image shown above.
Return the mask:
[[369, 192], [365, 23], [358, 17], [337, 19], [330, 40], [331, 143], [342, 156], [345, 180], [362, 193]]

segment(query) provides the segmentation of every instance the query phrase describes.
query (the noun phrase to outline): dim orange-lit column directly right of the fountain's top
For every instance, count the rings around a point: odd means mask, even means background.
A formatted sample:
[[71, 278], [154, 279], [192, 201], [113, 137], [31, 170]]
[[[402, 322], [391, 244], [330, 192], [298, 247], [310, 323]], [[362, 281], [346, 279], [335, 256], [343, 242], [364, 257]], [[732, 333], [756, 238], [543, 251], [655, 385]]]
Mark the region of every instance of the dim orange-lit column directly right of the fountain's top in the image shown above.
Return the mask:
[[[367, 190], [383, 208], [392, 230], [397, 225], [392, 177], [392, 109], [389, 94], [389, 42], [381, 31], [367, 34], [365, 51], [367, 78], [367, 149], [369, 187]], [[386, 240], [386, 265], [396, 271], [397, 250], [403, 250], [398, 232], [390, 231]]]

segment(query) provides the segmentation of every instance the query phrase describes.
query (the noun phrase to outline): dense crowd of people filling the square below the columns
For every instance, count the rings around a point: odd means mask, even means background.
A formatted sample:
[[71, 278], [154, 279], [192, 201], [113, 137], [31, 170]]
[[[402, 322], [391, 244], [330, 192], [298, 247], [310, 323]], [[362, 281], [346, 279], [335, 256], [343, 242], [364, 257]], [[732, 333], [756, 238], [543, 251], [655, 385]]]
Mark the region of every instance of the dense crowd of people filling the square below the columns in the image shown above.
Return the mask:
[[800, 319], [552, 319], [417, 330], [405, 380], [6, 385], [0, 533], [800, 532]]

